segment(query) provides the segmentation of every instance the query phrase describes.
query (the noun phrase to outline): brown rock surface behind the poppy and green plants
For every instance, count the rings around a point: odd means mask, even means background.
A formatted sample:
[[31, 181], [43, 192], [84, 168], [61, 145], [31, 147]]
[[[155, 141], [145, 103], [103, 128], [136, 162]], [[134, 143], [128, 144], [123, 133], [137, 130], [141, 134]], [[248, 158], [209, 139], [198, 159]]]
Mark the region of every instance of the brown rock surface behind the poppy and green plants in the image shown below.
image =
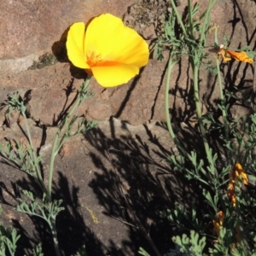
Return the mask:
[[[177, 2], [182, 12], [187, 1]], [[198, 2], [206, 8], [207, 1]], [[41, 149], [45, 154], [44, 170], [58, 117], [75, 96], [68, 88], [78, 89], [85, 77], [83, 71], [70, 66], [63, 50], [68, 26], [109, 12], [123, 17], [125, 24], [142, 33], [152, 48], [155, 26], [166, 11], [170, 12], [169, 5], [160, 0], [2, 0], [0, 7], [0, 102], [15, 91], [20, 96], [31, 93], [29, 121], [37, 147], [43, 131], [35, 121], [48, 125]], [[217, 1], [212, 23], [219, 26], [219, 41], [226, 35], [231, 47], [249, 44], [255, 50], [255, 16], [255, 1]], [[208, 42], [212, 46], [213, 33]], [[83, 244], [89, 255], [137, 255], [138, 247], [154, 255], [143, 229], [160, 253], [172, 247], [172, 225], [160, 211], [177, 201], [191, 201], [196, 195], [195, 189], [184, 183], [183, 177], [175, 176], [166, 162], [177, 151], [164, 123], [166, 60], [156, 61], [152, 54], [140, 76], [117, 88], [105, 89], [92, 81], [90, 89], [95, 96], [78, 114], [97, 120], [98, 128], [69, 140], [55, 164], [55, 198], [63, 199], [65, 207], [57, 218], [57, 227], [66, 255]], [[234, 61], [223, 67], [223, 73], [227, 88], [246, 88], [247, 92], [253, 85], [253, 66]], [[188, 61], [183, 60], [173, 71], [170, 107], [177, 131], [188, 144], [195, 144], [195, 137], [186, 132], [195, 121], [188, 77]], [[216, 78], [204, 70], [201, 96], [203, 111], [216, 108]], [[235, 102], [232, 113], [241, 116], [247, 108]], [[20, 131], [24, 124], [18, 116], [13, 115], [7, 125], [1, 111], [0, 123], [2, 141], [15, 138], [26, 142]], [[13, 209], [15, 193], [33, 189], [32, 181], [11, 166], [0, 166], [1, 219], [20, 233], [17, 255], [24, 255], [38, 241], [50, 241], [50, 236], [40, 219]], [[46, 244], [45, 255], [53, 255], [51, 245]]]

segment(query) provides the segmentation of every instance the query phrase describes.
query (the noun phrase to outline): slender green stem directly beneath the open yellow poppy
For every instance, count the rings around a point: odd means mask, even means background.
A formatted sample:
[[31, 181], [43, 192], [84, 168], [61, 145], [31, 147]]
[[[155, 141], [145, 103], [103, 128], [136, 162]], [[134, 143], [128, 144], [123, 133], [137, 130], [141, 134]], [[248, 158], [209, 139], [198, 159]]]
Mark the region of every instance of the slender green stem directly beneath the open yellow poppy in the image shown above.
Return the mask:
[[49, 201], [51, 201], [52, 177], [53, 177], [53, 172], [54, 172], [55, 157], [58, 154], [57, 149], [59, 148], [58, 147], [58, 141], [59, 141], [59, 137], [61, 135], [61, 130], [63, 128], [63, 124], [69, 123], [68, 120], [73, 115], [74, 111], [79, 107], [79, 105], [82, 102], [84, 102], [84, 99], [85, 99], [85, 97], [84, 97], [85, 91], [84, 90], [87, 90], [87, 88], [90, 84], [90, 78], [91, 77], [88, 76], [87, 79], [85, 80], [85, 83], [83, 84], [83, 87], [79, 90], [79, 95], [77, 96], [76, 101], [73, 103], [73, 106], [72, 106], [71, 110], [69, 111], [69, 113], [67, 113], [67, 116], [65, 117], [65, 119], [62, 120], [61, 125], [60, 125], [58, 131], [56, 132], [54, 143], [52, 145], [52, 150], [51, 150], [51, 154], [50, 154], [50, 160], [49, 160], [49, 179], [48, 179], [48, 197], [49, 197]]

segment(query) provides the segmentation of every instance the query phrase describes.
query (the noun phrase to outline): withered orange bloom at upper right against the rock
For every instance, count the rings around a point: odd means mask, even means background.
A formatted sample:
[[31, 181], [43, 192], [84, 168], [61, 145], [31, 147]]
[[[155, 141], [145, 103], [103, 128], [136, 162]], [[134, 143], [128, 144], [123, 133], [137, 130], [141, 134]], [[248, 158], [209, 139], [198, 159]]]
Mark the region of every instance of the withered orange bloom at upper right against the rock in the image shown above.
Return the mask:
[[250, 58], [245, 51], [234, 51], [231, 49], [225, 49], [224, 45], [221, 44], [218, 49], [218, 55], [222, 55], [224, 61], [231, 61], [235, 59], [236, 61], [242, 61], [252, 64], [253, 58]]

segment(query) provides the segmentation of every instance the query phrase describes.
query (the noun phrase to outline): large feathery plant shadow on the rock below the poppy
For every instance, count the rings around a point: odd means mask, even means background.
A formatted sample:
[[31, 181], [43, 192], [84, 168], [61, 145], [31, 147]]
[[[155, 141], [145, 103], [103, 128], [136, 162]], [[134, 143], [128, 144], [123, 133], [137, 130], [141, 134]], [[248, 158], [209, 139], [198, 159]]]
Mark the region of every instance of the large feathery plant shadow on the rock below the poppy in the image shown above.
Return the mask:
[[[129, 227], [130, 241], [123, 241], [122, 245], [124, 255], [129, 251], [125, 251], [126, 247], [135, 254], [139, 247], [144, 247], [154, 255], [154, 245], [160, 248], [160, 253], [166, 253], [173, 233], [171, 223], [161, 212], [178, 201], [185, 204], [192, 194], [183, 177], [177, 177], [166, 162], [171, 154], [166, 148], [171, 149], [173, 143], [169, 135], [164, 138], [166, 143], [160, 142], [147, 125], [134, 131], [132, 125], [119, 122], [117, 127], [112, 121], [111, 137], [99, 128], [85, 136], [100, 154], [91, 152], [90, 157], [96, 168], [102, 170], [95, 174], [90, 187], [104, 213]], [[133, 137], [129, 135], [131, 129]], [[120, 130], [125, 135], [120, 135]], [[105, 166], [106, 160], [110, 168]]]

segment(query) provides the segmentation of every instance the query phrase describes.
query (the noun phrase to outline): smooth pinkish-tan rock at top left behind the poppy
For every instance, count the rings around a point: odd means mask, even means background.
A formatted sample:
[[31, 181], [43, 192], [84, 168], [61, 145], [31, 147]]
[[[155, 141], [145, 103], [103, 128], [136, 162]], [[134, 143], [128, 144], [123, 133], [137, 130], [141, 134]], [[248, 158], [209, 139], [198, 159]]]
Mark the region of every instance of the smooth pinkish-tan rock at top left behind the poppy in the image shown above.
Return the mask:
[[1, 7], [1, 59], [14, 59], [50, 51], [61, 33], [75, 21], [111, 12], [122, 15], [131, 1], [116, 0], [3, 0]]

